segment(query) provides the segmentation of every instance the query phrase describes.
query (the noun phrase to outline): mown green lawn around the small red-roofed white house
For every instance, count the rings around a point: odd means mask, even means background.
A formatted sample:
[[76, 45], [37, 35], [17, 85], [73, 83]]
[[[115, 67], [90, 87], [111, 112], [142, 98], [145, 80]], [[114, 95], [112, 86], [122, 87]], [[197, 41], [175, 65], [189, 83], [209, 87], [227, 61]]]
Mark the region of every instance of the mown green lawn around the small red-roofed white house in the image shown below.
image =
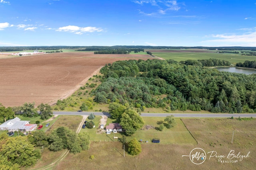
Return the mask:
[[[176, 119], [177, 125], [175, 127], [170, 129], [165, 127], [163, 131], [158, 131], [159, 125], [164, 123], [164, 118], [165, 117], [143, 117], [145, 125], [151, 125], [153, 128], [149, 130], [138, 130], [132, 136], [127, 136], [127, 140], [130, 141], [130, 139], [135, 137], [138, 140], [142, 139], [144, 142], [149, 141], [151, 143], [153, 138], [159, 138], [160, 142], [163, 144], [196, 145], [196, 141], [190, 135], [184, 123], [178, 118]], [[81, 129], [81, 131], [86, 131], [90, 134], [91, 141], [118, 141], [118, 139], [114, 140], [113, 137], [122, 138], [122, 135], [125, 135], [124, 133], [111, 133], [107, 135], [105, 131], [100, 131], [100, 129], [97, 129], [98, 125], [100, 125], [100, 119], [101, 116], [96, 116], [93, 120], [95, 128], [88, 129], [86, 127], [85, 129]], [[86, 120], [90, 121], [89, 119]], [[106, 125], [109, 125], [109, 123], [116, 123], [116, 120], [108, 118]]]

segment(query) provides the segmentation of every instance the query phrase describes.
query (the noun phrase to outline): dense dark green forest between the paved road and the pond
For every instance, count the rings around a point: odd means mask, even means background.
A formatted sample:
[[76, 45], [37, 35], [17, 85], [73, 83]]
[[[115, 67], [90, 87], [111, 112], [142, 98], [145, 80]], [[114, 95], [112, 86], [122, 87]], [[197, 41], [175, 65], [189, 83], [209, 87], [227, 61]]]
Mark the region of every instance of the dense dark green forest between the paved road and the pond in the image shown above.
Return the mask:
[[[226, 63], [216, 59], [203, 63]], [[126, 103], [143, 111], [190, 109], [214, 113], [256, 111], [256, 75], [220, 72], [200, 61], [129, 60], [106, 64], [93, 92], [98, 103]]]

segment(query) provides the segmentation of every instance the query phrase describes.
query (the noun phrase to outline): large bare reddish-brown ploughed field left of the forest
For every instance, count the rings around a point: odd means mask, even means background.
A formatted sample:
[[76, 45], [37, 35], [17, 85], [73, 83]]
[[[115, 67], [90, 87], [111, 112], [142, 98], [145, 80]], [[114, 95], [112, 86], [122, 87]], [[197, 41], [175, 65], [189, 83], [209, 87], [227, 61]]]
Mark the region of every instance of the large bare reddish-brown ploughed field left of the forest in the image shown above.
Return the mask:
[[152, 57], [74, 52], [0, 59], [0, 103], [5, 107], [25, 102], [54, 104], [83, 86], [105, 64], [130, 59]]

